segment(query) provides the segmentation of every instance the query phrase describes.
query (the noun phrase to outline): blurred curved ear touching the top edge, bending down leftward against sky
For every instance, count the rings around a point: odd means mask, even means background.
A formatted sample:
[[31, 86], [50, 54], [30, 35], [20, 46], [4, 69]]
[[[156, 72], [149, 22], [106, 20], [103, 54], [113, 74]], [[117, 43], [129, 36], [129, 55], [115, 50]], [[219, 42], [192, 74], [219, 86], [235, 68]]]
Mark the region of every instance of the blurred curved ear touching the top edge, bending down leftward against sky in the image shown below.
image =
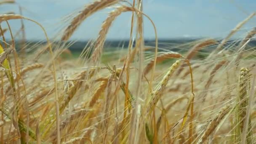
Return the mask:
[[87, 5], [83, 11], [81, 11], [69, 24], [69, 26], [65, 29], [63, 36], [61, 37], [61, 40], [69, 40], [71, 35], [75, 32], [77, 27], [80, 26], [80, 24], [88, 18], [88, 16], [91, 16], [96, 11], [99, 11], [101, 9], [107, 8], [111, 5], [115, 5], [118, 3], [119, 0], [97, 0], [94, 3], [91, 3]]

